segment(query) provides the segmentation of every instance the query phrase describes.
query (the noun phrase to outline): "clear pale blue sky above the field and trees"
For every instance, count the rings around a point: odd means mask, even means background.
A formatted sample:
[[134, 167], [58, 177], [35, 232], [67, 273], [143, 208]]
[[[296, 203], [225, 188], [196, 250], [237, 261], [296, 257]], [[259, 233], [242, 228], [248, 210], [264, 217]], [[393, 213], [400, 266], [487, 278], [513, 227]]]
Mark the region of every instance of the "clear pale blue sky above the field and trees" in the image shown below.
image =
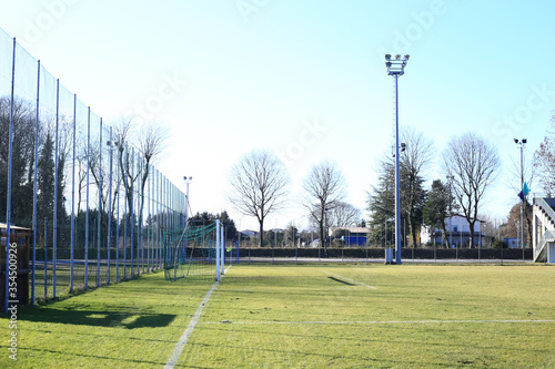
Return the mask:
[[[0, 28], [105, 122], [122, 114], [164, 122], [172, 139], [158, 166], [192, 209], [240, 217], [225, 191], [231, 165], [255, 147], [281, 153], [293, 204], [310, 166], [335, 161], [347, 199], [365, 208], [376, 160], [392, 143], [392, 79], [384, 53], [408, 53], [400, 123], [441, 152], [474, 131], [500, 151], [503, 173], [482, 214], [517, 202], [512, 174], [555, 109], [555, 6], [551, 1], [43, 0], [0, 1]], [[533, 191], [537, 191], [532, 186]], [[303, 224], [302, 208], [268, 228]]]

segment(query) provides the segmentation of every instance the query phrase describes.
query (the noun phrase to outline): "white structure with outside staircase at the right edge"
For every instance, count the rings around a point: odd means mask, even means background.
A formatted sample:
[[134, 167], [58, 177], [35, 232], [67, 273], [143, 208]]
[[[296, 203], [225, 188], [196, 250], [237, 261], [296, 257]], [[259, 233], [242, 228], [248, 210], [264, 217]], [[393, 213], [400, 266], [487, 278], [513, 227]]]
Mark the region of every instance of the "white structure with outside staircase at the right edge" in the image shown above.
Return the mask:
[[534, 262], [555, 264], [555, 198], [534, 198]]

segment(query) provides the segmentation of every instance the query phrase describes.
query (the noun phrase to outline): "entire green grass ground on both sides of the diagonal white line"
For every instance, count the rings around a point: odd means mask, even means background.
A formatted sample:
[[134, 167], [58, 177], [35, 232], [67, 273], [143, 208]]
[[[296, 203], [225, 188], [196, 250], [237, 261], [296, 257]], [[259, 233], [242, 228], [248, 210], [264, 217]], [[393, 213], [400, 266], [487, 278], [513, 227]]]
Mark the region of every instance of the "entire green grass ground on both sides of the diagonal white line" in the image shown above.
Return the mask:
[[548, 266], [241, 265], [212, 287], [158, 273], [22, 309], [17, 367], [555, 367]]

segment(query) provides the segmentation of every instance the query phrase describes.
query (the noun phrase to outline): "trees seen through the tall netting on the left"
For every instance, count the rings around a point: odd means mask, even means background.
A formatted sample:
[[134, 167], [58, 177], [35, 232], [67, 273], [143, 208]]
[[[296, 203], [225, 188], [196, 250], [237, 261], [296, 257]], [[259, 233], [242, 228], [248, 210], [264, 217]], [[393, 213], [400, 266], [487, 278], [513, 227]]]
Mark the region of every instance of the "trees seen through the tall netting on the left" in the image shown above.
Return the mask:
[[[11, 222], [32, 227], [37, 217], [39, 238], [53, 233], [54, 208], [58, 238], [70, 238], [71, 203], [74, 195], [75, 225], [85, 222], [84, 204], [88, 181], [91, 184], [91, 212], [89, 223], [97, 224], [100, 212], [101, 227], [107, 228], [114, 218], [118, 188], [127, 202], [127, 225], [143, 224], [147, 180], [152, 175], [152, 163], [162, 153], [168, 132], [161, 124], [139, 127], [131, 120], [121, 120], [113, 126], [112, 136], [97, 134], [88, 140], [83, 122], [73, 126], [73, 116], [57, 116], [41, 112], [37, 122], [34, 103], [0, 98], [0, 221], [6, 222], [8, 198], [9, 131], [13, 122]], [[91, 124], [92, 125], [92, 124]], [[104, 147], [102, 147], [103, 145]], [[131, 147], [137, 147], [132, 155]], [[112, 157], [110, 157], [112, 156]], [[112, 162], [113, 160], [113, 162]], [[74, 193], [72, 193], [72, 163], [75, 163]], [[112, 180], [112, 186], [109, 181]], [[34, 187], [37, 186], [37, 192]], [[111, 191], [111, 193], [110, 193]], [[100, 196], [99, 196], [100, 192]], [[33, 197], [37, 195], [37, 207]], [[94, 195], [93, 195], [94, 194]], [[92, 197], [94, 196], [94, 198]], [[139, 199], [138, 199], [139, 198]], [[111, 199], [111, 203], [110, 203]], [[131, 211], [133, 209], [133, 211]], [[134, 215], [133, 215], [134, 213]], [[111, 214], [111, 216], [110, 216]], [[111, 219], [109, 219], [111, 217]], [[152, 222], [152, 219], [148, 221]], [[81, 227], [78, 227], [81, 228]], [[84, 228], [84, 227], [83, 227]], [[123, 228], [123, 227], [122, 227]], [[104, 229], [105, 230], [105, 229]], [[78, 240], [80, 232], [77, 230]]]

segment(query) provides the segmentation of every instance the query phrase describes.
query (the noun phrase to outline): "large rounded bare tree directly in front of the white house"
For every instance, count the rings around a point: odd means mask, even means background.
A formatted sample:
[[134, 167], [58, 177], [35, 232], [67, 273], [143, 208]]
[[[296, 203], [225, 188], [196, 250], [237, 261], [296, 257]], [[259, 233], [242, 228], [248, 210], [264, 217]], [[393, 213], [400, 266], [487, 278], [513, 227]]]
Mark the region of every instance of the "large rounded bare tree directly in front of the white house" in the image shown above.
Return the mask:
[[497, 151], [475, 133], [466, 133], [451, 139], [443, 161], [447, 175], [453, 178], [453, 195], [468, 222], [472, 247], [481, 202], [501, 167]]

